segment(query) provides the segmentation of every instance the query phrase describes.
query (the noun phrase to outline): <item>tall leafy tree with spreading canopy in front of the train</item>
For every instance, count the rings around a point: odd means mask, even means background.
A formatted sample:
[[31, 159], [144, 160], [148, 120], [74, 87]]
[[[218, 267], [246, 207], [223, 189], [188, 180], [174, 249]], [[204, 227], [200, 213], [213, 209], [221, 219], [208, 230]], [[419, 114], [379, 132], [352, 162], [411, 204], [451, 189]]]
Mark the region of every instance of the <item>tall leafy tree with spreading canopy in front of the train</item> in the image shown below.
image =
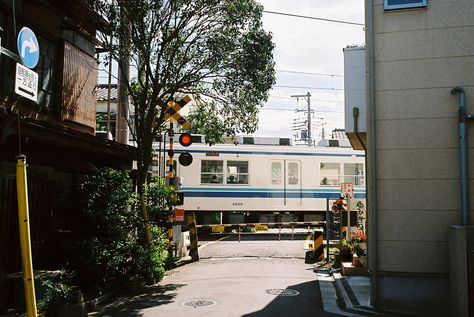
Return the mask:
[[192, 132], [211, 142], [256, 130], [275, 72], [271, 34], [255, 0], [90, 1], [113, 30], [102, 34], [111, 55], [129, 50], [137, 72], [127, 86], [142, 196], [169, 100], [192, 96]]

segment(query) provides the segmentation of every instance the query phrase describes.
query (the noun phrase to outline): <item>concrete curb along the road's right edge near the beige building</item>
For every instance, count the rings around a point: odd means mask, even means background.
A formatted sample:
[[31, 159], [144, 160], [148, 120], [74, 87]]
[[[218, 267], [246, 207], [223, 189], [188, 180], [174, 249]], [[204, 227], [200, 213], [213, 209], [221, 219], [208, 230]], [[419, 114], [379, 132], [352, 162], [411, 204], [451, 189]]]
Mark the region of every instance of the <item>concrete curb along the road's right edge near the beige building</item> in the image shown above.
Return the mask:
[[371, 307], [360, 305], [359, 301], [357, 300], [357, 297], [355, 296], [354, 292], [352, 291], [344, 276], [342, 276], [340, 273], [335, 272], [333, 272], [332, 275], [334, 277], [334, 284], [336, 286], [336, 293], [338, 298], [337, 302], [343, 310], [363, 316], [399, 316], [388, 314], [386, 312], [376, 311]]

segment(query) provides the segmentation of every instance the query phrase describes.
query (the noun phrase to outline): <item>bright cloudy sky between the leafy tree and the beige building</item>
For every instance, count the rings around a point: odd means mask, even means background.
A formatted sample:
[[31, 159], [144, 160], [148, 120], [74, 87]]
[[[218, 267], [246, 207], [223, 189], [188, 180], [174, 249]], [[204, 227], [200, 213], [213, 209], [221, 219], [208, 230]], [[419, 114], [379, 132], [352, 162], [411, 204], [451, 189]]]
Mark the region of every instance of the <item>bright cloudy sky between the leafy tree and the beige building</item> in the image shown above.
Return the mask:
[[[257, 0], [264, 11], [282, 12], [324, 19], [364, 23], [364, 0]], [[293, 137], [294, 120], [307, 114], [305, 98], [311, 94], [314, 110], [313, 139], [344, 128], [344, 56], [348, 45], [365, 42], [363, 26], [263, 13], [263, 26], [273, 34], [276, 84], [269, 100], [260, 108], [255, 136]], [[289, 72], [287, 72], [289, 71]], [[294, 72], [316, 73], [301, 74]], [[286, 88], [293, 86], [299, 88]], [[305, 87], [325, 88], [310, 89]], [[297, 100], [298, 99], [298, 100]]]

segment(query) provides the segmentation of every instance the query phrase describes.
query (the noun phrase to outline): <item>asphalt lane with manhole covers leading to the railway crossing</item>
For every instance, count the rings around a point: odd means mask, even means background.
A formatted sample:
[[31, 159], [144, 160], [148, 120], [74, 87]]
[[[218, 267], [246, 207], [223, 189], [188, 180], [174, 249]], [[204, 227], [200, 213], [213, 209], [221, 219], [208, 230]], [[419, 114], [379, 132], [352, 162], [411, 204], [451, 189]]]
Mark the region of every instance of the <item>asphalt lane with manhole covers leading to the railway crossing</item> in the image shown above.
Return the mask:
[[338, 316], [323, 311], [318, 274], [304, 261], [302, 240], [211, 240], [201, 241], [199, 262], [90, 316]]

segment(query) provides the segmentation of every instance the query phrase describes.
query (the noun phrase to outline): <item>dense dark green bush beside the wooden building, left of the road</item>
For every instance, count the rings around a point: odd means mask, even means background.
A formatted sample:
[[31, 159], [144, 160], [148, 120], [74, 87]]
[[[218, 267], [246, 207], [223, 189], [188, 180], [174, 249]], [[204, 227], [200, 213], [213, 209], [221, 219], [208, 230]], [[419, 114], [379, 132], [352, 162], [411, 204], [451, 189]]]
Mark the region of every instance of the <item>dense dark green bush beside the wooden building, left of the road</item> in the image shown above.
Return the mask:
[[84, 177], [79, 189], [82, 214], [72, 266], [81, 289], [94, 296], [123, 281], [161, 279], [166, 235], [151, 226], [154, 244], [148, 248], [128, 172], [101, 169]]

